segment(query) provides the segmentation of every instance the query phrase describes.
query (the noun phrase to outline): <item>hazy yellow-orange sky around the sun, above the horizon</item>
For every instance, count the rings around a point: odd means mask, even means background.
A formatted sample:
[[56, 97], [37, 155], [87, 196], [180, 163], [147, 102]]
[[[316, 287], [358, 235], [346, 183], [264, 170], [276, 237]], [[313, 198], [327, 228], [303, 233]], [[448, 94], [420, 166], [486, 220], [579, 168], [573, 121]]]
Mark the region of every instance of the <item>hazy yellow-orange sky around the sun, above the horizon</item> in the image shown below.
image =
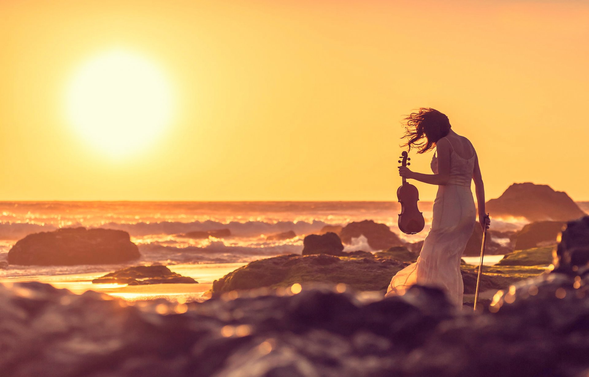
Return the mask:
[[[4, 0], [0, 199], [396, 201], [399, 121], [428, 106], [477, 148], [488, 198], [531, 181], [589, 200], [587, 19], [578, 1]], [[64, 104], [113, 48], [176, 101], [117, 158]]]

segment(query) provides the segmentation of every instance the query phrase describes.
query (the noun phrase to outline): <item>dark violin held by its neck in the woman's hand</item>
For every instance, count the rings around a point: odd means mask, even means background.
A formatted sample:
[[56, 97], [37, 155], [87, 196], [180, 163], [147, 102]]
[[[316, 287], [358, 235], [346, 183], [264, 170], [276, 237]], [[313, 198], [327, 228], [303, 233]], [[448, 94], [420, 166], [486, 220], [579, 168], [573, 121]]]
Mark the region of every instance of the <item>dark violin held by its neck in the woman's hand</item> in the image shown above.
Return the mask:
[[[407, 152], [403, 151], [401, 154], [402, 160], [399, 164], [402, 166], [411, 165], [411, 158], [407, 156]], [[419, 192], [412, 184], [408, 184], [405, 177], [403, 177], [403, 184], [397, 189], [397, 198], [401, 203], [401, 213], [399, 213], [399, 229], [406, 234], [415, 234], [423, 230], [425, 220], [423, 213], [419, 212], [417, 202], [419, 201]]]

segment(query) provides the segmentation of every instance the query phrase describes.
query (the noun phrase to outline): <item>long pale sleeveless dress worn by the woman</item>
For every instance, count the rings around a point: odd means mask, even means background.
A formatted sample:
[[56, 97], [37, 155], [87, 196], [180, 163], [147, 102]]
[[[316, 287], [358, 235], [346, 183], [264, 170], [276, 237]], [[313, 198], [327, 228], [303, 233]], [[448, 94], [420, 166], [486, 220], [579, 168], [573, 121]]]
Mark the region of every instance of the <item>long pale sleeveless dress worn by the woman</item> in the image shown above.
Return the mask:
[[[421, 253], [417, 262], [411, 263], [393, 276], [386, 296], [402, 295], [413, 284], [437, 286], [444, 289], [456, 306], [462, 307], [464, 286], [460, 259], [472, 235], [477, 216], [471, 192], [477, 152], [471, 158], [465, 159], [456, 154], [453, 146], [451, 149], [450, 179], [448, 184], [438, 186], [432, 226], [423, 241]], [[438, 173], [435, 155], [431, 168], [434, 174]]]

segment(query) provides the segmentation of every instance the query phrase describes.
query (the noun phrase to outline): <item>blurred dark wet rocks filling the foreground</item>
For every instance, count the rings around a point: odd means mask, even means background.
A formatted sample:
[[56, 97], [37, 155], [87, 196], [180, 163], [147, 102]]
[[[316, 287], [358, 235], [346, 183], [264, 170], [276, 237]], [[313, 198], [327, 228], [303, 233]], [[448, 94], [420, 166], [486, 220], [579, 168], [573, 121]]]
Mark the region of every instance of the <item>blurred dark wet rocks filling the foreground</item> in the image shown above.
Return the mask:
[[495, 313], [457, 312], [443, 292], [420, 286], [386, 299], [303, 286], [296, 295], [234, 293], [204, 303], [129, 306], [41, 283], [0, 285], [0, 371], [577, 377], [589, 369], [589, 305], [587, 282], [574, 288], [575, 282], [560, 274], [514, 287], [494, 299]]

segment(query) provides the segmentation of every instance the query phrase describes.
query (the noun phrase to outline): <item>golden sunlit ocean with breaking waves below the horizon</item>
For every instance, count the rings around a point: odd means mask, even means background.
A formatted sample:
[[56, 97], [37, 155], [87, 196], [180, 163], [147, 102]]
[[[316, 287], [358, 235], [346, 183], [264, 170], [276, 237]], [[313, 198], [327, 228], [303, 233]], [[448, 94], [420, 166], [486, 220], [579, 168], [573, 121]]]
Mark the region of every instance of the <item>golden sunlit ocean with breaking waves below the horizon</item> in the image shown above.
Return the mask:
[[[578, 203], [588, 211], [589, 202]], [[9, 249], [29, 233], [58, 228], [121, 229], [137, 243], [141, 259], [128, 265], [249, 262], [269, 256], [301, 253], [303, 238], [325, 225], [346, 225], [371, 219], [385, 223], [406, 242], [425, 238], [433, 202], [419, 202], [425, 229], [405, 235], [397, 226], [396, 202], [0, 202], [0, 264]], [[515, 231], [523, 218], [492, 218], [492, 229]], [[188, 239], [182, 233], [229, 229], [225, 238]], [[267, 236], [294, 231], [296, 237], [269, 241]], [[356, 239], [345, 251], [372, 251]], [[0, 278], [110, 271], [126, 265], [14, 266], [0, 269]]]

